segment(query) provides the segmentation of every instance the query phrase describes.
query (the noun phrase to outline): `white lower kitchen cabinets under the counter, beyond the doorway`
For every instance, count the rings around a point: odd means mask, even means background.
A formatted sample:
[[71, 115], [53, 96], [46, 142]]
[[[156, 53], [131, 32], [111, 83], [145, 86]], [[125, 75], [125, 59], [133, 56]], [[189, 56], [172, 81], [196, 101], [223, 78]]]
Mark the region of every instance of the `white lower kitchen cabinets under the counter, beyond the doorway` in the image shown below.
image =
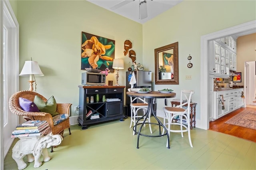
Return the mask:
[[[243, 89], [230, 89], [226, 91], [213, 92], [213, 120], [218, 119], [228, 113], [239, 109], [242, 106], [242, 91]], [[224, 99], [224, 109], [220, 101], [221, 95]]]

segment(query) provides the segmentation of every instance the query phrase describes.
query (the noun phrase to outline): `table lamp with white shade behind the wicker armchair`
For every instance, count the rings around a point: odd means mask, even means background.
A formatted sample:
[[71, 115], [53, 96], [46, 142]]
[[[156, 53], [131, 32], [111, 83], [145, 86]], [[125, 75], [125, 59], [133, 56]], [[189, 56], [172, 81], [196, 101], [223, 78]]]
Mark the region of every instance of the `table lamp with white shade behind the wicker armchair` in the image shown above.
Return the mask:
[[[19, 76], [28, 77], [30, 88], [29, 91], [33, 91], [33, 83], [36, 82], [35, 76], [44, 76], [42, 73], [37, 61], [25, 61], [25, 64], [19, 74]], [[33, 80], [34, 77], [34, 80]], [[35, 91], [36, 91], [36, 83], [35, 83]]]

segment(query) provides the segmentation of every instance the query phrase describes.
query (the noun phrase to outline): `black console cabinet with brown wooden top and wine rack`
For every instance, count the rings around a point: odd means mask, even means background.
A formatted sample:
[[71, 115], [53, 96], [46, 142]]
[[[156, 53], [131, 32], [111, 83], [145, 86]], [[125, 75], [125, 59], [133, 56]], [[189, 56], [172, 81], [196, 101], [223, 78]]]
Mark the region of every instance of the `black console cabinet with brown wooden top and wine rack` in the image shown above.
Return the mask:
[[[78, 86], [79, 116], [78, 125], [87, 129], [87, 125], [124, 118], [124, 88], [125, 86]], [[98, 101], [96, 100], [98, 96]], [[94, 97], [93, 102], [87, 101]], [[105, 99], [118, 99], [104, 101]], [[94, 115], [98, 115], [93, 117]], [[92, 118], [93, 117], [93, 118]]]

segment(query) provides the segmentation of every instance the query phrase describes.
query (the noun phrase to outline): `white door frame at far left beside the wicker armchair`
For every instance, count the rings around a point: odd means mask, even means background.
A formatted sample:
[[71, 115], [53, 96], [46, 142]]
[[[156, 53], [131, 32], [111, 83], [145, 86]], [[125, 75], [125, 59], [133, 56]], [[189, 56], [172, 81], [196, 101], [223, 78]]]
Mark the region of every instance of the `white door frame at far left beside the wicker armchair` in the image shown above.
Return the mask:
[[[0, 137], [1, 137], [1, 169], [4, 165], [4, 157], [8, 153], [8, 150], [13, 142], [13, 138], [10, 137], [12, 131], [18, 124], [18, 116], [10, 112], [9, 109], [9, 99], [11, 95], [18, 91], [19, 89], [19, 24], [12, 10], [10, 2], [8, 0], [1, 0], [0, 4]], [[5, 26], [7, 30], [6, 37], [6, 49], [5, 49], [5, 59], [3, 55], [3, 35], [2, 28]], [[4, 61], [4, 63], [3, 63]], [[4, 66], [4, 67], [3, 67]], [[4, 69], [4, 70], [3, 70]], [[5, 74], [5, 77], [3, 77]], [[4, 80], [4, 81], [3, 81]], [[3, 89], [3, 83], [5, 83], [6, 88]], [[5, 104], [5, 105], [3, 105]], [[5, 119], [3, 120], [2, 114], [5, 114]]]

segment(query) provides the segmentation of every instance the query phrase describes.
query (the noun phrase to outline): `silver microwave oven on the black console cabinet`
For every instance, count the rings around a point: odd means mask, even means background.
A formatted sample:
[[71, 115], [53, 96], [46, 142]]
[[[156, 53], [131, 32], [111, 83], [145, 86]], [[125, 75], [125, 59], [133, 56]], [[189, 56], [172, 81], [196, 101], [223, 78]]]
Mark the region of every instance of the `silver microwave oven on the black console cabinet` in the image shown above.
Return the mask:
[[82, 73], [82, 85], [105, 85], [106, 74], [104, 73]]

